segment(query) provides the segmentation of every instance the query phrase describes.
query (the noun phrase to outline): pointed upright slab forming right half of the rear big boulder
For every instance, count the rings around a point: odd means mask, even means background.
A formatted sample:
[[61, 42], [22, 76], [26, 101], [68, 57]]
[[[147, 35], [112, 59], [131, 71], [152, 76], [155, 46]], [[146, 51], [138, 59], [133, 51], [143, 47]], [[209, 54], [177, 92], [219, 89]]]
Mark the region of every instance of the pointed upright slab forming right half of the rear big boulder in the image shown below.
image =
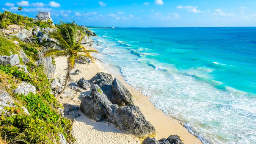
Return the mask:
[[116, 104], [125, 106], [133, 105], [132, 94], [128, 91], [126, 87], [117, 78], [114, 79], [112, 83], [114, 100]]

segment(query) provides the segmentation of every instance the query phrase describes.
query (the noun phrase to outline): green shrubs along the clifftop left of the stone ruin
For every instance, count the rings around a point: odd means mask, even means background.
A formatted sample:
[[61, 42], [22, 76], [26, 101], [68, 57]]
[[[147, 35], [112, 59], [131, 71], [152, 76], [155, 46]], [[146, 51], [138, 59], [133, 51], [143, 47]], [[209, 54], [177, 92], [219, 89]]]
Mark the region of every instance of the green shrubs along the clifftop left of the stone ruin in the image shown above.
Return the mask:
[[19, 25], [20, 27], [25, 27], [27, 29], [32, 28], [33, 26], [38, 26], [40, 28], [53, 27], [50, 20], [46, 22], [43, 22], [42, 20], [33, 21], [33, 18], [10, 13], [9, 11], [0, 13], [0, 28], [6, 29], [9, 25]]

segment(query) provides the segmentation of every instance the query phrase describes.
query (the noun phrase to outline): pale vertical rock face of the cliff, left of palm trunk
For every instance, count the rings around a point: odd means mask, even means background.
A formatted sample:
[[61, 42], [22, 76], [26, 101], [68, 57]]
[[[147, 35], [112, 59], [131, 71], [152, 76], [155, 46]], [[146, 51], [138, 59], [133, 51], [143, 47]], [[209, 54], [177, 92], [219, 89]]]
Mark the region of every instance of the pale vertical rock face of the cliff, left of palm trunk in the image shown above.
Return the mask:
[[49, 50], [45, 48], [38, 52], [39, 60], [36, 61], [36, 64], [44, 66], [44, 74], [48, 77], [56, 72], [56, 66], [53, 64], [54, 59], [51, 56], [44, 57], [44, 53]]

